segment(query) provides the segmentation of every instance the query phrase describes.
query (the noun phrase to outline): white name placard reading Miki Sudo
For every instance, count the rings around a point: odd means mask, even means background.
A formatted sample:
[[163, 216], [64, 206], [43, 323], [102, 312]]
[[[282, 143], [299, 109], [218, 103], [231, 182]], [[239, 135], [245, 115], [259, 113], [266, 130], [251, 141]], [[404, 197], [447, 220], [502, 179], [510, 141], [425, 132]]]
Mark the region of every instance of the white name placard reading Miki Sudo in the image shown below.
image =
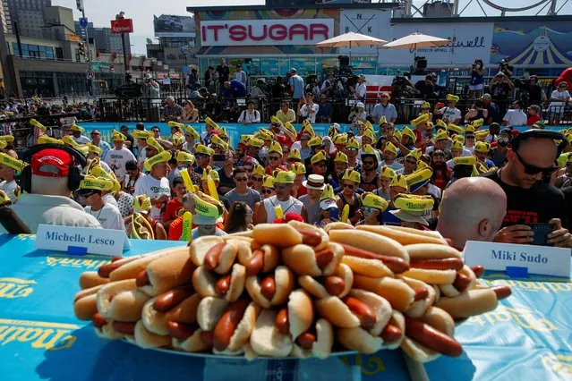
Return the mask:
[[570, 276], [570, 249], [467, 241], [464, 253], [467, 266], [482, 265], [497, 271], [526, 267], [531, 274]]

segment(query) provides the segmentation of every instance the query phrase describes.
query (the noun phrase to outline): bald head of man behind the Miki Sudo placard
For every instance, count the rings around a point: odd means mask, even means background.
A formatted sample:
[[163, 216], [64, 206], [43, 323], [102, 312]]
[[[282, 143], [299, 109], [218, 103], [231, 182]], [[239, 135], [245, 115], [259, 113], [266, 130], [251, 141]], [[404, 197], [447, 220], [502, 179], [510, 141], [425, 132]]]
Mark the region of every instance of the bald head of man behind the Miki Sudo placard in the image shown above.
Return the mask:
[[465, 177], [445, 191], [437, 231], [463, 250], [466, 241], [492, 241], [506, 212], [507, 196], [499, 184], [484, 177]]

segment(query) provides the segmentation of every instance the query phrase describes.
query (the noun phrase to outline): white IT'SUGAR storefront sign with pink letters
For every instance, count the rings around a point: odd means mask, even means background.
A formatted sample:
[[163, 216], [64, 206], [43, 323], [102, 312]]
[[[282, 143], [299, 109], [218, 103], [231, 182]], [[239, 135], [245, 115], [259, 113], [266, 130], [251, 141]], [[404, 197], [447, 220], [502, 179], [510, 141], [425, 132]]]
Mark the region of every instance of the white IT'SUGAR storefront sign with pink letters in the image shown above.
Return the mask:
[[202, 47], [315, 45], [332, 37], [331, 19], [201, 21]]

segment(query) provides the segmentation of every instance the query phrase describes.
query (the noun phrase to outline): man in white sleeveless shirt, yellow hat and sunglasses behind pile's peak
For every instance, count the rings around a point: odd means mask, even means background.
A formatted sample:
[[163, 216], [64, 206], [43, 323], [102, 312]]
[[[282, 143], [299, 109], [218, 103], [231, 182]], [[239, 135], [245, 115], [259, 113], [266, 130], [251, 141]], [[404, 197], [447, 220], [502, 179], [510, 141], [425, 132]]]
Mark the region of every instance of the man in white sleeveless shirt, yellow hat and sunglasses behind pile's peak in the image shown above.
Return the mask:
[[254, 224], [273, 224], [277, 219], [277, 207], [281, 209], [283, 216], [287, 213], [295, 213], [302, 216], [304, 222], [308, 221], [306, 207], [300, 200], [290, 195], [295, 177], [294, 172], [278, 171], [274, 178], [276, 196], [267, 197], [260, 202], [260, 207], [254, 210], [252, 218]]

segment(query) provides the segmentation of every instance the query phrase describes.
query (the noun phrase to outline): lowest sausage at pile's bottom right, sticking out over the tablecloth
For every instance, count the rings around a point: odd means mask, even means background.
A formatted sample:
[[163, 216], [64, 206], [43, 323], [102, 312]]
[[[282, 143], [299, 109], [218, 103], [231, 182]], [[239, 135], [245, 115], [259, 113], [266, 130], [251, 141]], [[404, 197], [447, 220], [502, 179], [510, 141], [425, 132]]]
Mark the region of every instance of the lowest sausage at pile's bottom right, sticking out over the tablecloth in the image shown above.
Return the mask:
[[458, 357], [463, 353], [463, 347], [455, 339], [416, 318], [406, 316], [406, 335], [449, 357]]

